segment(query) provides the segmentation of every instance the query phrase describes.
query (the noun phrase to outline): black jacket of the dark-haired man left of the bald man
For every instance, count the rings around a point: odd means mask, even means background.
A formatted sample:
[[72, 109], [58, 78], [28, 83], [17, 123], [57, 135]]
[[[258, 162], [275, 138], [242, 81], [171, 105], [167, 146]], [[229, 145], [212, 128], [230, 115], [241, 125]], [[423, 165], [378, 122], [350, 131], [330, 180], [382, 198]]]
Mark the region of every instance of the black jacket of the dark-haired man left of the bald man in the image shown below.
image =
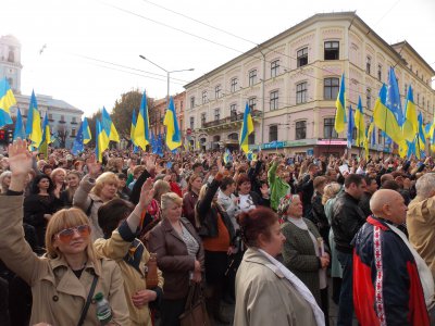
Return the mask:
[[333, 208], [332, 227], [334, 241], [340, 252], [352, 253], [350, 242], [365, 223], [366, 216], [358, 205], [358, 199], [344, 191], [338, 195]]

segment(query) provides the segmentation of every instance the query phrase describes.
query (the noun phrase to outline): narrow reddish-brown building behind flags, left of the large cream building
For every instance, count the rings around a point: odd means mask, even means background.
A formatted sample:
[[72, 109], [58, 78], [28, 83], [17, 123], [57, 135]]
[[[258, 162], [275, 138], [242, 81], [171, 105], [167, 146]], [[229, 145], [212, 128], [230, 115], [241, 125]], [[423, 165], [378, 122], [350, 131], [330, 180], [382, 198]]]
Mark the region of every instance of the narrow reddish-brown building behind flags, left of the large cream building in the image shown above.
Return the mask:
[[[186, 92], [176, 93], [173, 96], [175, 112], [178, 121], [179, 131], [182, 137], [185, 136], [184, 111], [186, 105]], [[163, 125], [164, 114], [166, 112], [166, 98], [154, 100], [153, 106], [149, 110], [150, 127], [154, 135], [163, 135], [165, 127]]]

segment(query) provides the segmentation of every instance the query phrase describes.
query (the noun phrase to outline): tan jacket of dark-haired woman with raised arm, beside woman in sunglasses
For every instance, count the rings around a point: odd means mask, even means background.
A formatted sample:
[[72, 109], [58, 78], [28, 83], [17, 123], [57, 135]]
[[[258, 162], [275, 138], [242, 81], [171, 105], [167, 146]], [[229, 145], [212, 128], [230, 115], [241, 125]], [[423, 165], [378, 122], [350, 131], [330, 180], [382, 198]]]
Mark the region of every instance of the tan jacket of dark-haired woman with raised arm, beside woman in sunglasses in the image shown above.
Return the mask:
[[[137, 240], [138, 241], [138, 240]], [[145, 268], [149, 260], [149, 252], [145, 246], [140, 242], [139, 246], [142, 247], [144, 253], [139, 263], [139, 269], [136, 269], [133, 265], [128, 264], [124, 256], [127, 254], [132, 247], [132, 241], [125, 241], [119, 230], [114, 230], [110, 239], [97, 239], [94, 243], [96, 250], [99, 254], [112, 259], [120, 265], [123, 278], [124, 278], [124, 290], [125, 297], [129, 310], [129, 318], [132, 325], [137, 326], [151, 326], [150, 311], [148, 305], [136, 308], [133, 304], [132, 297], [139, 290], [145, 290], [147, 288]], [[132, 248], [132, 250], [135, 250]], [[137, 249], [136, 249], [137, 250]], [[158, 269], [159, 275], [159, 288], [163, 289], [163, 276], [162, 272]]]

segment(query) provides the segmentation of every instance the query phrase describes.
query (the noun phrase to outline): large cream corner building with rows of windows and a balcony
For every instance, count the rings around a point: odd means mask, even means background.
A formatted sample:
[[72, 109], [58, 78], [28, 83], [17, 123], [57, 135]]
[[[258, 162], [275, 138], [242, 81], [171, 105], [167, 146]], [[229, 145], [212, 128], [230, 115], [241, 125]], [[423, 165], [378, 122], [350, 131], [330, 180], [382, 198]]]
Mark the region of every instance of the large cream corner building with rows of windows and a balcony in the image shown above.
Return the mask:
[[[248, 104], [251, 148], [341, 154], [346, 131], [334, 130], [341, 74], [347, 105], [361, 97], [369, 126], [390, 66], [402, 99], [412, 86], [418, 111], [432, 122], [435, 71], [408, 42], [388, 45], [353, 12], [316, 14], [187, 84], [185, 127], [197, 147], [237, 147]], [[389, 151], [384, 143], [376, 130], [371, 149]]]

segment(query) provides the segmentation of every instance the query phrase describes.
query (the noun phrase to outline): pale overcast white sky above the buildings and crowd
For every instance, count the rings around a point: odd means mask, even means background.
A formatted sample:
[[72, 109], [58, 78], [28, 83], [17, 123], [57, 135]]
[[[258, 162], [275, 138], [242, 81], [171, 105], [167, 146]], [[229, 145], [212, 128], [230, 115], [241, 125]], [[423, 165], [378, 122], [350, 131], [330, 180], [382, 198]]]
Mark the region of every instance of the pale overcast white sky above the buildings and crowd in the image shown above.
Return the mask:
[[164, 71], [195, 70], [171, 73], [170, 92], [182, 92], [303, 20], [341, 11], [357, 11], [388, 43], [406, 39], [435, 68], [433, 0], [10, 0], [0, 36], [22, 43], [22, 93], [34, 89], [90, 116], [133, 89], [165, 97]]

